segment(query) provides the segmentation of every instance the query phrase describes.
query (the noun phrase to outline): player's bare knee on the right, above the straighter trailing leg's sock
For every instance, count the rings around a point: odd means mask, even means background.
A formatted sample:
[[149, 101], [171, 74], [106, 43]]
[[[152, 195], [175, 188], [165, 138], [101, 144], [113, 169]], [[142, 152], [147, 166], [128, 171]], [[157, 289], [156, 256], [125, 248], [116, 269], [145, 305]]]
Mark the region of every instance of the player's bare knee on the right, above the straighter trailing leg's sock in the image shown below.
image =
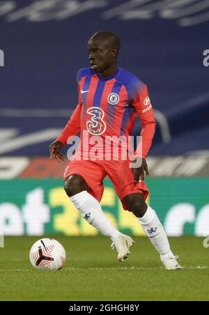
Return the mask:
[[127, 203], [130, 211], [136, 215], [136, 217], [143, 217], [147, 210], [146, 202], [144, 201], [142, 194], [129, 194], [125, 197], [125, 203]]

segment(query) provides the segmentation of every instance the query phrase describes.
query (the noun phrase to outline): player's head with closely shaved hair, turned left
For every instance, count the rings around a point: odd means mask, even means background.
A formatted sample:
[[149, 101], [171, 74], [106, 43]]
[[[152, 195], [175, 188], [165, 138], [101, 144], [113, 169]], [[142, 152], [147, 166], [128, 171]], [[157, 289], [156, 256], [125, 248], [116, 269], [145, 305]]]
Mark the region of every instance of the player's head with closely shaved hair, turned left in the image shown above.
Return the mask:
[[104, 72], [117, 61], [120, 40], [111, 31], [98, 31], [88, 40], [88, 52], [91, 68]]

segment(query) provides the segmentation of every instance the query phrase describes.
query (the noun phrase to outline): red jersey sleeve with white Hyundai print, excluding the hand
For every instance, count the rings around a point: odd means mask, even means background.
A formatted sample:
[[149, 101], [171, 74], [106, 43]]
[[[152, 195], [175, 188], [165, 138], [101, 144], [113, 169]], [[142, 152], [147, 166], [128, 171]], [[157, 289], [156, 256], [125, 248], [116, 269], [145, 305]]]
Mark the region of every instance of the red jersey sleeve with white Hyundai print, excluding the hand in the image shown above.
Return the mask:
[[135, 151], [135, 155], [146, 158], [155, 135], [155, 117], [146, 84], [137, 84], [137, 89], [135, 89], [134, 98], [132, 99], [132, 106], [139, 116], [142, 127], [141, 142]]

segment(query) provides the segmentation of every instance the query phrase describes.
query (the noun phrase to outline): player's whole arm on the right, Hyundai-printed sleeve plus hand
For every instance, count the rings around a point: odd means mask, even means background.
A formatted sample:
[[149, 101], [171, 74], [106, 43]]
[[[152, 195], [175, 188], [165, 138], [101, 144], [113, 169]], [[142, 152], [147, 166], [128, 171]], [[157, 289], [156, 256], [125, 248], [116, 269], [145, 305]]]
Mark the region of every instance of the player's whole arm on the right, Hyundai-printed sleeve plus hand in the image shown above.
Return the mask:
[[135, 156], [141, 159], [141, 166], [132, 169], [134, 182], [138, 183], [139, 178], [144, 181], [144, 172], [149, 176], [146, 156], [155, 135], [155, 116], [146, 84], [140, 86], [132, 104], [141, 121], [141, 142], [135, 151]]

